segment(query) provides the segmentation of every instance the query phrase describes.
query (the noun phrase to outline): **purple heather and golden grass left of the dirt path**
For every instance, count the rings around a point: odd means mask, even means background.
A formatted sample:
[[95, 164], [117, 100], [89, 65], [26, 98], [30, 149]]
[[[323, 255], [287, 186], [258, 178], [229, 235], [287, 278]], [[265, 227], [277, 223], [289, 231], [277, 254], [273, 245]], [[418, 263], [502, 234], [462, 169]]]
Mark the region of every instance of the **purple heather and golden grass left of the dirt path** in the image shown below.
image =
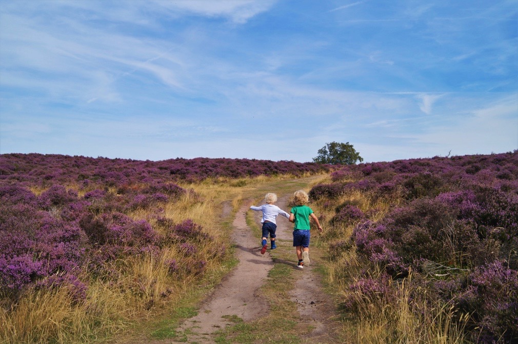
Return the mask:
[[217, 221], [223, 200], [239, 202], [241, 188], [264, 179], [326, 171], [290, 161], [1, 155], [1, 341], [103, 340], [199, 284], [210, 288], [231, 266], [231, 228]]

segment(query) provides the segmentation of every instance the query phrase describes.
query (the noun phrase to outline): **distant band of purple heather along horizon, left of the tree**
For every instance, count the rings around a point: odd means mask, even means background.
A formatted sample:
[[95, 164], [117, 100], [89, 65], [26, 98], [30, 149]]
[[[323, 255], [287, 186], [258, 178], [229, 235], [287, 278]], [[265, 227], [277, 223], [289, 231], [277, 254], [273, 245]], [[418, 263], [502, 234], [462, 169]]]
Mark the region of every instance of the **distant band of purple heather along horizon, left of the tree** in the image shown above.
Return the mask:
[[[293, 161], [268, 161], [256, 159], [170, 159], [164, 161], [138, 161], [130, 159], [92, 158], [55, 154], [2, 154], [0, 155], [0, 180], [27, 181], [49, 186], [49, 182], [65, 185], [71, 182], [102, 183], [107, 187], [148, 183], [171, 196], [161, 184], [172, 181], [202, 181], [207, 178], [243, 178], [260, 175], [275, 176], [327, 172], [328, 165], [297, 163]], [[172, 185], [172, 184], [171, 184]], [[122, 189], [121, 189], [122, 190]], [[174, 186], [170, 192], [178, 192]]]

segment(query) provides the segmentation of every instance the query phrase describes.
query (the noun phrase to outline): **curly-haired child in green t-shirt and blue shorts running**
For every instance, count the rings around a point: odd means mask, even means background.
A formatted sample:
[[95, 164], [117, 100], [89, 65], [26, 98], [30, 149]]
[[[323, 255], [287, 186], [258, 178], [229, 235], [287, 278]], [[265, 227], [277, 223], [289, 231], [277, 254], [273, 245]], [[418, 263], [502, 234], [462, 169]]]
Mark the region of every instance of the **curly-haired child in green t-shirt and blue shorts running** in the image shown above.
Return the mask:
[[319, 232], [322, 233], [322, 226], [319, 219], [306, 204], [309, 202], [308, 194], [304, 190], [295, 191], [295, 206], [291, 208], [290, 222], [295, 223], [293, 228], [293, 247], [296, 248], [299, 269], [304, 269], [304, 265], [309, 264], [309, 230], [311, 226], [309, 219], [313, 219]]

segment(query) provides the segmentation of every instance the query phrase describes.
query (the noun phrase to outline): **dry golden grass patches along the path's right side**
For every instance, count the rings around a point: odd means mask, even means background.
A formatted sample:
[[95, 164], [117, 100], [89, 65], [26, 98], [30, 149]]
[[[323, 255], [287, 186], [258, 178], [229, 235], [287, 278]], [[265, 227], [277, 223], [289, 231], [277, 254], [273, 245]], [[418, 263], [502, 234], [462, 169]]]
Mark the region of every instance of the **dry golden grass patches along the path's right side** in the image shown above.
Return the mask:
[[[400, 195], [393, 197], [376, 197], [370, 193], [350, 191], [332, 201], [333, 206], [325, 206], [328, 199], [313, 203], [312, 208], [324, 220], [321, 223], [326, 232], [325, 245], [346, 245], [347, 249], [333, 252], [324, 262], [327, 284], [334, 290], [339, 299], [350, 297], [350, 293], [359, 293], [349, 289], [361, 271], [369, 269], [371, 276], [380, 273], [376, 266], [365, 266], [356, 255], [354, 243], [349, 240], [354, 230], [353, 224], [332, 224], [330, 219], [335, 215], [335, 208], [340, 204], [353, 204], [364, 213], [369, 220], [379, 221], [394, 206], [402, 203]], [[453, 322], [450, 308], [435, 305], [430, 307], [424, 300], [410, 298], [410, 278], [394, 286], [396, 302], [370, 302], [362, 295], [353, 295], [356, 299], [364, 299], [357, 313], [352, 314], [351, 321], [343, 322], [343, 332], [349, 334], [353, 342], [365, 344], [403, 344], [403, 343], [436, 343], [461, 344], [465, 342], [463, 326]], [[419, 302], [420, 304], [416, 304]], [[424, 310], [424, 311], [423, 311]], [[467, 319], [464, 319], [464, 323]], [[461, 322], [462, 323], [462, 322]]]

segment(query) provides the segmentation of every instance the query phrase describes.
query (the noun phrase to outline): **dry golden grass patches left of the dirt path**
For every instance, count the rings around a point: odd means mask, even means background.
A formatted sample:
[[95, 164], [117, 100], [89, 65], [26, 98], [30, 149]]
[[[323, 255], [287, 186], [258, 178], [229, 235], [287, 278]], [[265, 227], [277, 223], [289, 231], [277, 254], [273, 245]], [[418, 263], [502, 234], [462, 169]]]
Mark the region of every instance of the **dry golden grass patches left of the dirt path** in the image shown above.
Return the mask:
[[[207, 262], [205, 274], [209, 276], [209, 283], [214, 283], [214, 279], [221, 278], [226, 272], [224, 264], [214, 261], [210, 249], [214, 242], [216, 245], [228, 242], [231, 228], [225, 227], [221, 220], [222, 203], [230, 202], [236, 211], [244, 194], [253, 193], [261, 185], [290, 177], [261, 176], [182, 184], [181, 187], [194, 192], [161, 205], [164, 217], [175, 223], [191, 219], [214, 238], [207, 245], [197, 247], [196, 252], [197, 259]], [[74, 185], [69, 185], [69, 188], [78, 190]], [[31, 189], [37, 195], [45, 190]], [[116, 193], [116, 190], [108, 192]], [[128, 216], [148, 220], [154, 226], [155, 211], [137, 209]], [[175, 277], [168, 271], [166, 262], [180, 262], [180, 254], [170, 247], [163, 249], [158, 257], [147, 254], [114, 262], [111, 275], [90, 281], [87, 297], [81, 303], [74, 303], [66, 288], [26, 293], [12, 309], [0, 307], [0, 343], [98, 342], [126, 331], [138, 321], [156, 316], [166, 307], [174, 307], [196, 287], [198, 283], [195, 281], [199, 276], [184, 274]]]

